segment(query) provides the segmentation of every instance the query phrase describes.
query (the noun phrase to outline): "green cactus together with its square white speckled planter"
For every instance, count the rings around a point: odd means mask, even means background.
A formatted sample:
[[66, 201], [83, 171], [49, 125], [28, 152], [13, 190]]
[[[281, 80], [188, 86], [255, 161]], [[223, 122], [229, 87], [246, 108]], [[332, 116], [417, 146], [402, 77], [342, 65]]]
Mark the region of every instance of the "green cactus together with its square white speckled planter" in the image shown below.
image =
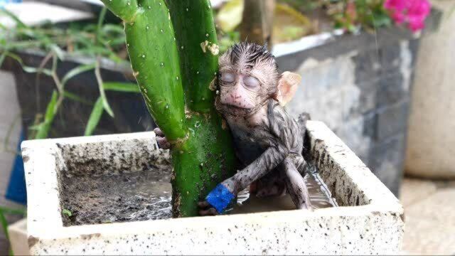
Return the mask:
[[399, 252], [400, 203], [321, 122], [306, 124], [306, 160], [340, 208], [170, 218], [195, 216], [196, 202], [234, 170], [210, 90], [218, 66], [210, 3], [105, 4], [124, 20], [141, 93], [173, 144], [172, 167], [153, 132], [23, 142], [32, 254]]

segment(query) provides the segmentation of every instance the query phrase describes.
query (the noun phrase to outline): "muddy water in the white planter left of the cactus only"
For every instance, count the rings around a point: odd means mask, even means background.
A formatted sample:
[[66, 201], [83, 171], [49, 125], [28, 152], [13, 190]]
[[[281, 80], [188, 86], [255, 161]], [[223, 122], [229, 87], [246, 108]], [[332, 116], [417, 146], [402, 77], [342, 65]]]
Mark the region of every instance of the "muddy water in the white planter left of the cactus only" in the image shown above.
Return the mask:
[[171, 166], [105, 176], [65, 176], [64, 225], [171, 218]]

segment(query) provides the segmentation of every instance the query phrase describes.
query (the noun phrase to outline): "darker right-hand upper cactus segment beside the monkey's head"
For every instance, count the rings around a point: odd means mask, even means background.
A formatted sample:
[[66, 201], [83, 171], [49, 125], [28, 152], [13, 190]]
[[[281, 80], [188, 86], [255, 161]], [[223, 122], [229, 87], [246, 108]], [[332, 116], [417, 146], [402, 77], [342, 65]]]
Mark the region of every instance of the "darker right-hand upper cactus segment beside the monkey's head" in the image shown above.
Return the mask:
[[186, 105], [196, 112], [213, 108], [210, 82], [218, 72], [218, 39], [208, 0], [168, 0], [176, 30]]

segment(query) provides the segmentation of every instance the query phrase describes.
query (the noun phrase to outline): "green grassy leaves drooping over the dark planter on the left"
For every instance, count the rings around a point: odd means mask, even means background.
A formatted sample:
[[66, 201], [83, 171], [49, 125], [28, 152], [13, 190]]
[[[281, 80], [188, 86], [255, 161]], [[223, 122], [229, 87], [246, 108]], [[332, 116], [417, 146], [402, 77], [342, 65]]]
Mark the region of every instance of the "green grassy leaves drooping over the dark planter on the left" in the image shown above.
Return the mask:
[[[101, 58], [107, 58], [116, 63], [127, 63], [125, 60], [127, 50], [124, 31], [119, 24], [103, 24], [106, 9], [101, 11], [97, 23], [70, 23], [68, 28], [58, 28], [50, 23], [30, 27], [9, 11], [0, 9], [0, 12], [16, 21], [15, 28], [6, 28], [0, 25], [0, 65], [6, 57], [9, 57], [20, 63], [25, 72], [47, 75], [53, 78], [55, 83], [56, 90], [48, 102], [46, 112], [44, 114], [37, 113], [35, 124], [28, 127], [30, 130], [29, 139], [45, 139], [48, 137], [55, 115], [59, 112], [63, 100], [75, 100], [85, 105], [93, 105], [93, 102], [65, 90], [66, 83], [73, 78], [77, 78], [77, 75], [89, 71], [93, 72], [100, 88], [100, 102], [102, 102], [103, 107], [101, 112], [99, 109], [96, 109], [96, 112], [92, 112], [87, 121], [85, 134], [92, 134], [103, 111], [114, 117], [105, 95], [105, 90], [139, 92], [137, 85], [134, 85], [133, 89], [132, 84], [128, 83], [124, 85], [110, 84], [107, 85], [110, 87], [106, 89], [105, 82], [101, 78]], [[16, 52], [30, 49], [48, 52], [38, 67], [24, 65], [21, 58], [16, 54]], [[63, 78], [60, 78], [57, 74], [58, 63], [65, 60], [67, 55], [83, 55], [93, 58], [94, 61], [90, 64], [79, 65], [63, 75]], [[52, 61], [51, 68], [43, 68], [50, 60]]]

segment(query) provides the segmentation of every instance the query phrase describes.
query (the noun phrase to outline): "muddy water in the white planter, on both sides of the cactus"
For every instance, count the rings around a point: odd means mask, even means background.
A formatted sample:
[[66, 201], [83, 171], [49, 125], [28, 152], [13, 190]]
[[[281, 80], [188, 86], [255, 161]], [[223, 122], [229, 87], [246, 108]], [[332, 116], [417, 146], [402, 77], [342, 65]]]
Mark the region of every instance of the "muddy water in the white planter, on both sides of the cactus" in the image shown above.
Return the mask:
[[[315, 209], [337, 206], [316, 169], [304, 177]], [[62, 176], [60, 195], [65, 226], [171, 218], [171, 164], [104, 176]], [[294, 210], [289, 195], [257, 198], [248, 190], [226, 214]], [[68, 211], [71, 216], [68, 216]]]

